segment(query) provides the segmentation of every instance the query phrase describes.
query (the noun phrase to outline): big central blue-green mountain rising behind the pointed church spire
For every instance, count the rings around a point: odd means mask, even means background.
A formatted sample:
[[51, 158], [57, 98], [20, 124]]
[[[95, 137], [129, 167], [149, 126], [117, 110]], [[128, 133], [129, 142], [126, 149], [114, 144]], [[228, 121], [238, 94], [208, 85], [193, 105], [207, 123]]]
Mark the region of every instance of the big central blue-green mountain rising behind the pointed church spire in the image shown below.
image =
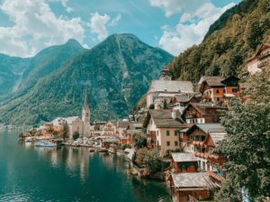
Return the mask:
[[125, 117], [172, 59], [132, 34], [113, 34], [0, 106], [0, 122], [39, 124], [57, 116], [81, 115], [86, 86], [92, 121]]

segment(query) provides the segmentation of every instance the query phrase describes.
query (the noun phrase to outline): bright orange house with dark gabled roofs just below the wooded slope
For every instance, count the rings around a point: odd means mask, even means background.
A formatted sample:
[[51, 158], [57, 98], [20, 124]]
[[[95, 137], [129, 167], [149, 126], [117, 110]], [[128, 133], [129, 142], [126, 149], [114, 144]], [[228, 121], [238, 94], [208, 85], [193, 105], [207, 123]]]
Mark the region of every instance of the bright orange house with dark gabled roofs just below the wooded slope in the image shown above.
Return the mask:
[[238, 80], [235, 76], [202, 77], [199, 81], [204, 102], [227, 104], [232, 97], [238, 97]]

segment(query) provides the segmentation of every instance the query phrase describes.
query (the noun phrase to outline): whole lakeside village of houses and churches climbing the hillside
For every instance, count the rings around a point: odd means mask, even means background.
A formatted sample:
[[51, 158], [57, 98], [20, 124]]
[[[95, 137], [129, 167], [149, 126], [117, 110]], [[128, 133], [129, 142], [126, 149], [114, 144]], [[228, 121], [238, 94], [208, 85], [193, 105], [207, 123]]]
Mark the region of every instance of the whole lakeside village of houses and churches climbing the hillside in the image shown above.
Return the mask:
[[[39, 140], [63, 137], [67, 145], [90, 148], [95, 142], [100, 151], [125, 154], [140, 177], [151, 178], [160, 171], [166, 173], [173, 201], [209, 199], [227, 176], [223, 168], [226, 159], [211, 153], [227, 136], [220, 119], [232, 100], [247, 101], [248, 84], [241, 80], [261, 72], [269, 59], [270, 44], [262, 44], [246, 60], [247, 72], [241, 78], [202, 76], [196, 89], [191, 81], [172, 80], [170, 70], [164, 67], [159, 79], [151, 82], [146, 107], [125, 120], [90, 124], [91, 106], [86, 87], [81, 117], [57, 117], [31, 129], [30, 133], [23, 133], [22, 137], [35, 135]], [[157, 151], [162, 161], [169, 161], [166, 168], [160, 164], [160, 168], [153, 169], [139, 160], [148, 151], [154, 151], [153, 156]], [[153, 161], [159, 157], [155, 158]]]

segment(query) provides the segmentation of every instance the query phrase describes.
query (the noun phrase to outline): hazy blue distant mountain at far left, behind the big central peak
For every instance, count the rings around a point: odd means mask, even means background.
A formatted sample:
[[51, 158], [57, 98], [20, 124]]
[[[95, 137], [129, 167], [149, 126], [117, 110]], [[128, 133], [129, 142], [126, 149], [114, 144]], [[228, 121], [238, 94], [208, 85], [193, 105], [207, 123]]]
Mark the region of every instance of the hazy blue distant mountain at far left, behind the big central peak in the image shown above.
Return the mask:
[[2, 78], [0, 98], [25, 94], [40, 78], [53, 73], [68, 60], [84, 51], [85, 49], [77, 41], [69, 40], [63, 45], [41, 50], [36, 56], [28, 59], [0, 54], [0, 78]]

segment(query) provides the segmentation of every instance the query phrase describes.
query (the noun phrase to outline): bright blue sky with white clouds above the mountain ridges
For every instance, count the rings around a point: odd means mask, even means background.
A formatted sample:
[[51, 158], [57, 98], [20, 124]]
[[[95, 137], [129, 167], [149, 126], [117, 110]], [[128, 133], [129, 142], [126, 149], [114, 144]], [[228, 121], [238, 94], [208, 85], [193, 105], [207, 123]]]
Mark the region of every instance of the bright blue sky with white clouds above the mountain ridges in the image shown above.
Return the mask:
[[69, 39], [91, 49], [112, 33], [133, 33], [176, 56], [240, 1], [0, 0], [0, 53], [32, 57]]

